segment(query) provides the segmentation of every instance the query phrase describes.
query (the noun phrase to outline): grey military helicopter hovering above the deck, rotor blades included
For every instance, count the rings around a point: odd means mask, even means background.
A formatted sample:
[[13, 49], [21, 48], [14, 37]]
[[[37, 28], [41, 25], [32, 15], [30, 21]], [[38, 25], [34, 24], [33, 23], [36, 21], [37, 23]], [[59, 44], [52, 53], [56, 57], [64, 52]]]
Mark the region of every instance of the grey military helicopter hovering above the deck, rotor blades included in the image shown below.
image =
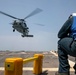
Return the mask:
[[5, 12], [2, 12], [2, 11], [0, 11], [0, 13], [3, 14], [3, 15], [6, 15], [8, 17], [11, 17], [11, 18], [15, 19], [13, 21], [13, 23], [11, 23], [12, 24], [12, 28], [13, 28], [13, 32], [15, 32], [15, 30], [18, 31], [19, 33], [22, 34], [21, 35], [22, 37], [33, 37], [33, 35], [29, 35], [29, 28], [27, 27], [25, 19], [27, 19], [27, 18], [29, 18], [31, 16], [34, 16], [34, 15], [40, 13], [41, 11], [42, 11], [42, 9], [36, 8], [34, 11], [32, 11], [24, 19], [20, 19], [20, 18], [14, 17], [14, 16], [9, 15], [9, 14], [7, 14]]

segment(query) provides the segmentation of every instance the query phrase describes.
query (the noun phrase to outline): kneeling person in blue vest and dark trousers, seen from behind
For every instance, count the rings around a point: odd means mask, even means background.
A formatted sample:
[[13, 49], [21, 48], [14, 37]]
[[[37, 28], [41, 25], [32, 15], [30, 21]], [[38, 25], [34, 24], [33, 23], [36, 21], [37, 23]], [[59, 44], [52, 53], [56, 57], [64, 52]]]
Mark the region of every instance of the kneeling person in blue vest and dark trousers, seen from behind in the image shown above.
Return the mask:
[[68, 55], [76, 57], [76, 13], [72, 13], [63, 24], [58, 32], [58, 38], [60, 38], [58, 41], [59, 69], [55, 75], [70, 75]]

